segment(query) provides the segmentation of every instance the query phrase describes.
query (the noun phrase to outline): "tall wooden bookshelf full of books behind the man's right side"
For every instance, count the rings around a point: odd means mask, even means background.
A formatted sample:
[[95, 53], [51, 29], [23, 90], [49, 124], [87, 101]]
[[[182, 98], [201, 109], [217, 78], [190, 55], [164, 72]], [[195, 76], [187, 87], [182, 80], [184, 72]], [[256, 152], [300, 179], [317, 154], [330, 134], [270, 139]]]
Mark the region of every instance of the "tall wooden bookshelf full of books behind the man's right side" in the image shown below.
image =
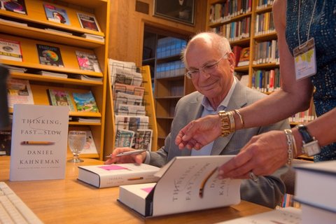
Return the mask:
[[[267, 3], [263, 3], [267, 2]], [[280, 87], [277, 36], [272, 18], [273, 1], [208, 0], [207, 30], [223, 34], [232, 51], [249, 48], [249, 63], [236, 66], [239, 77], [248, 76], [248, 87], [271, 94]], [[236, 61], [237, 61], [236, 55]], [[238, 62], [236, 62], [238, 64]], [[290, 118], [290, 124], [314, 119], [314, 104]]]

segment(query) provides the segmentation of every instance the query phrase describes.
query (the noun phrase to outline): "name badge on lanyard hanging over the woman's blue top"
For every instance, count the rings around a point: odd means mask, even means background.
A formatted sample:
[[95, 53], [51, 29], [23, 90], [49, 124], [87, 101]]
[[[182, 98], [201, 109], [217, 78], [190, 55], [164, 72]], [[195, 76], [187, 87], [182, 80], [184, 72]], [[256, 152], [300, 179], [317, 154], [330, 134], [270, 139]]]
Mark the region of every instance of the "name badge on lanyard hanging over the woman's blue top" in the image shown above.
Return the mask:
[[294, 62], [295, 62], [295, 76], [296, 80], [301, 78], [307, 78], [316, 74], [316, 55], [315, 55], [315, 42], [314, 37], [309, 39], [311, 22], [313, 21], [314, 12], [316, 8], [316, 2], [314, 3], [313, 12], [311, 13], [311, 19], [308, 27], [307, 41], [301, 44], [300, 42], [300, 10], [301, 0], [299, 0], [299, 15], [297, 16], [297, 38], [299, 40], [299, 46], [294, 48]]

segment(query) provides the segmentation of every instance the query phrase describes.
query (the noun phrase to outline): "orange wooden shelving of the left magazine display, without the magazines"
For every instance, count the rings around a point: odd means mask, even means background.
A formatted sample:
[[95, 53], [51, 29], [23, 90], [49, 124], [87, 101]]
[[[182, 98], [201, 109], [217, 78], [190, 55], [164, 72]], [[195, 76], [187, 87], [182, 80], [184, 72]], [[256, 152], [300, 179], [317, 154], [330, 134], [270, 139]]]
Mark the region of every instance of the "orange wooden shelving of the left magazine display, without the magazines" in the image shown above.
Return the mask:
[[[66, 10], [69, 25], [48, 20], [45, 4]], [[69, 92], [91, 91], [97, 102], [98, 113], [69, 112], [69, 118], [99, 118], [99, 123], [69, 121], [69, 130], [85, 129], [92, 132], [97, 153], [83, 154], [83, 158], [99, 158], [104, 151], [104, 123], [106, 106], [107, 47], [109, 40], [109, 0], [64, 0], [39, 1], [25, 0], [26, 14], [10, 10], [0, 10], [0, 38], [20, 41], [22, 62], [0, 59], [0, 63], [27, 69], [25, 73], [13, 71], [13, 78], [29, 80], [34, 97], [34, 104], [49, 105], [47, 89], [67, 90]], [[99, 25], [98, 30], [83, 28], [77, 13], [94, 17]], [[15, 22], [19, 22], [16, 24]], [[25, 25], [20, 25], [20, 23]], [[46, 30], [53, 29], [54, 31]], [[56, 31], [55, 31], [56, 30]], [[93, 34], [104, 37], [102, 41], [82, 37]], [[40, 64], [37, 44], [59, 48], [64, 66]], [[97, 56], [100, 71], [80, 69], [76, 51], [87, 52]], [[38, 71], [66, 73], [68, 78], [57, 78], [38, 75]], [[76, 76], [90, 76], [101, 80], [81, 80]], [[13, 113], [13, 110], [10, 110]]]

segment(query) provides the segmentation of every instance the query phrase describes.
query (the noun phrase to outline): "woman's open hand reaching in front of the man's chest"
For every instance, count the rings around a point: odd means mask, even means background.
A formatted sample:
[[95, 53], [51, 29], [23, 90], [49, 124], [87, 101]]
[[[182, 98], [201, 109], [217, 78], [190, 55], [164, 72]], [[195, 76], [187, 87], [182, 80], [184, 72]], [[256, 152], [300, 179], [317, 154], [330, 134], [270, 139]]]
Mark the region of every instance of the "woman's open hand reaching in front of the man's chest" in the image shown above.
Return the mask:
[[221, 136], [221, 119], [218, 115], [209, 115], [193, 120], [177, 134], [175, 144], [179, 149], [199, 150]]

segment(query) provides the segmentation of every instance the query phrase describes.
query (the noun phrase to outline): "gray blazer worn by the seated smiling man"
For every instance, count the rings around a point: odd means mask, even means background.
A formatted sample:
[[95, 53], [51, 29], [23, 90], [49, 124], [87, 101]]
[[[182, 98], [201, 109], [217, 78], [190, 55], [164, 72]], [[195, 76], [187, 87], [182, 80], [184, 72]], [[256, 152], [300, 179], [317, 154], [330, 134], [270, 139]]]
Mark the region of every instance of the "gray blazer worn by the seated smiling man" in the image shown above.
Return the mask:
[[[267, 95], [242, 85], [237, 81], [235, 90], [228, 103], [227, 111], [240, 109], [256, 102]], [[203, 106], [201, 104], [203, 95], [200, 92], [193, 92], [182, 97], [176, 104], [175, 116], [172, 122], [171, 132], [165, 139], [165, 146], [156, 152], [151, 152], [150, 164], [162, 167], [175, 156], [190, 155], [187, 148], [179, 150], [174, 143], [176, 135], [190, 121], [200, 118]], [[269, 130], [284, 130], [290, 128], [288, 120], [283, 120], [274, 125], [265, 127], [253, 127], [238, 130], [228, 137], [219, 137], [215, 140], [211, 155], [235, 155], [254, 135], [268, 132]], [[201, 149], [202, 150], [202, 149]], [[241, 199], [266, 207], [274, 208], [281, 202], [285, 193], [285, 185], [281, 181], [281, 174], [287, 171], [287, 167], [282, 167], [271, 176], [260, 176], [257, 182], [244, 180], [241, 182]]]

